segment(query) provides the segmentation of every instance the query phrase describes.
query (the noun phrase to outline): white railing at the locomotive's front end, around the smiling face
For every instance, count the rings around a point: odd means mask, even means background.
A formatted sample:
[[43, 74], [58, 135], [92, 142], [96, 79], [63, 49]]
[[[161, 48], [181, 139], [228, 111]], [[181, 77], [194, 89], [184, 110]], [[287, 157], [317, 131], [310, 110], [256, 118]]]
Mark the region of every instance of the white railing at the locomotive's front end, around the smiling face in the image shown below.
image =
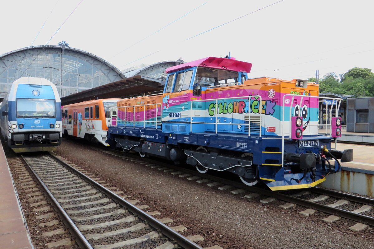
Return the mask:
[[[318, 103], [320, 102], [324, 102], [324, 100], [319, 100], [319, 99], [331, 99], [332, 100], [332, 104], [331, 104], [331, 107], [330, 107], [330, 115], [329, 115], [329, 118], [327, 118], [326, 116], [326, 124], [307, 124], [307, 125], [304, 125], [304, 127], [309, 127], [309, 126], [326, 126], [326, 133], [327, 133], [327, 126], [330, 127], [330, 136], [332, 134], [332, 130], [331, 130], [331, 118], [332, 118], [332, 108], [335, 106], [335, 113], [337, 114], [339, 108], [340, 108], [340, 103], [341, 103], [341, 100], [342, 99], [338, 99], [338, 98], [329, 98], [329, 97], [319, 97], [319, 96], [304, 96], [304, 95], [297, 95], [297, 94], [285, 94], [283, 95], [283, 106], [282, 106], [282, 122], [281, 122], [281, 132], [282, 132], [282, 161], [281, 161], [281, 164], [282, 164], [282, 167], [283, 167], [283, 161], [284, 161], [284, 140], [285, 140], [285, 133], [284, 133], [284, 124], [285, 124], [285, 120], [284, 120], [284, 109], [285, 109], [285, 98], [286, 97], [292, 97], [291, 99], [291, 102], [290, 102], [290, 105], [289, 105], [289, 130], [288, 130], [288, 139], [291, 139], [291, 130], [292, 130], [292, 123], [291, 123], [291, 114], [292, 114], [292, 106], [294, 104], [294, 99], [295, 97], [301, 97], [300, 99], [300, 108], [301, 108], [301, 103], [303, 103], [303, 98], [304, 97], [307, 97], [307, 98], [315, 98], [315, 99], [318, 99]], [[289, 99], [288, 99], [289, 100]], [[319, 106], [318, 106], [319, 108]], [[301, 111], [301, 109], [300, 109]], [[327, 112], [327, 102], [326, 102], [326, 112]], [[328, 122], [329, 121], [329, 122]], [[328, 124], [329, 123], [329, 124]], [[317, 129], [319, 130], [319, 129]], [[317, 132], [317, 135], [318, 135], [318, 132]], [[336, 140], [335, 140], [335, 148], [336, 148]]]

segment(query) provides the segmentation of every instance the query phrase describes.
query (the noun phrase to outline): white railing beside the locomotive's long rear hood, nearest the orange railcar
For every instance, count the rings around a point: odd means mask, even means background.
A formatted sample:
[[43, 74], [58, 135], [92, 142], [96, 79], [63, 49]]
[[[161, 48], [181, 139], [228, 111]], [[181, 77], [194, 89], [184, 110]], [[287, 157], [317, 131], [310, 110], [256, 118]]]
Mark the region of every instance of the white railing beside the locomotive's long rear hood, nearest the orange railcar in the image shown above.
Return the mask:
[[[154, 121], [151, 121], [151, 120], [145, 120], [145, 113], [146, 112], [150, 112], [151, 110], [146, 110], [146, 106], [156, 106], [156, 109], [155, 109], [155, 117], [154, 117]], [[160, 106], [160, 108], [158, 109], [158, 106]], [[142, 120], [135, 120], [135, 117], [136, 117], [136, 109], [140, 110], [140, 108], [143, 107], [143, 119]], [[125, 109], [124, 112], [124, 120], [118, 120], [119, 119], [119, 109]], [[132, 112], [128, 112], [127, 109], [128, 108], [132, 108]], [[113, 114], [113, 111], [116, 110], [116, 114]], [[122, 111], [121, 111], [122, 112]], [[128, 113], [132, 113], [133, 116], [132, 116], [132, 120], [127, 120], [127, 117], [128, 117]], [[158, 115], [158, 113], [160, 113], [160, 115]], [[124, 127], [126, 127], [126, 122], [132, 122], [132, 127], [134, 128], [135, 127], [135, 123], [136, 122], [142, 122], [143, 123], [143, 128], [145, 128], [145, 126], [155, 126], [156, 127], [156, 130], [157, 130], [157, 125], [160, 125], [161, 122], [162, 122], [162, 104], [161, 103], [153, 103], [153, 104], [144, 104], [144, 105], [132, 105], [132, 106], [117, 106], [117, 107], [113, 107], [113, 108], [109, 108], [108, 109], [108, 116], [110, 116], [110, 125], [111, 126], [115, 126], [115, 127], [118, 127], [119, 124], [123, 124]], [[112, 116], [116, 116], [116, 119], [115, 120], [111, 120], [112, 119]], [[115, 125], [113, 125], [113, 122], [115, 122]], [[155, 123], [154, 125], [152, 125], [152, 123]]]

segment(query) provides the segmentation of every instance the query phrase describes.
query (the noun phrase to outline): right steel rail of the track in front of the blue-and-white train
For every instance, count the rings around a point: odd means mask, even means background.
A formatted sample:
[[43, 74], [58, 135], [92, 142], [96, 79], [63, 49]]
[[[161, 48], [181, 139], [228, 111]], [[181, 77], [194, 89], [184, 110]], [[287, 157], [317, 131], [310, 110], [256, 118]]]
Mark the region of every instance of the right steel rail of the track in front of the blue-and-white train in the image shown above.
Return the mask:
[[73, 168], [72, 166], [68, 165], [66, 162], [62, 161], [61, 159], [57, 158], [55, 155], [52, 155], [49, 153], [50, 156], [52, 156], [53, 159], [58, 161], [60, 164], [67, 167], [69, 170], [73, 171], [80, 177], [84, 178], [84, 180], [91, 183], [93, 186], [95, 186], [100, 191], [107, 194], [110, 198], [117, 201], [121, 206], [128, 209], [133, 214], [137, 215], [141, 220], [144, 220], [145, 222], [148, 222], [153, 228], [156, 228], [161, 231], [162, 234], [164, 234], [169, 239], [174, 240], [175, 243], [178, 243], [182, 248], [185, 249], [203, 249], [201, 246], [197, 245], [196, 243], [192, 242], [191, 240], [188, 240], [185, 236], [181, 235], [180, 233], [176, 232], [172, 228], [168, 227], [167, 225], [163, 224], [162, 222], [158, 221], [156, 218], [152, 217], [151, 215], [148, 215], [141, 209], [137, 208], [135, 205], [132, 205], [127, 200], [123, 199], [119, 195], [111, 192], [106, 187], [102, 186], [101, 184], [97, 183], [96, 181], [89, 178], [87, 175], [83, 174], [79, 170]]

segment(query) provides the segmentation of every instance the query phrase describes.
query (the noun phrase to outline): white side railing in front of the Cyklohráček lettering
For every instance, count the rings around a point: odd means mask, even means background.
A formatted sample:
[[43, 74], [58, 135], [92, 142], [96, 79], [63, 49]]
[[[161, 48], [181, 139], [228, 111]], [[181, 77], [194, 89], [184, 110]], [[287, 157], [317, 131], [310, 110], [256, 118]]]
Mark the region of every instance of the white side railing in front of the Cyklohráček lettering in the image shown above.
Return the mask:
[[[233, 123], [233, 124], [226, 124], [226, 123], [219, 123], [218, 122], [218, 115], [217, 113], [219, 112], [219, 105], [218, 105], [218, 100], [226, 100], [226, 99], [242, 99], [242, 98], [247, 98], [248, 101], [249, 101], [249, 106], [251, 106], [251, 99], [252, 98], [255, 98], [256, 100], [259, 101], [259, 104], [258, 104], [258, 113], [250, 113], [251, 111], [248, 112], [248, 124], [246, 123]], [[218, 125], [243, 125], [243, 126], [246, 126], [248, 125], [248, 136], [251, 136], [251, 116], [255, 116], [255, 117], [258, 117], [258, 127], [259, 127], [259, 130], [258, 130], [258, 134], [259, 136], [261, 137], [261, 131], [262, 131], [262, 116], [261, 116], [261, 113], [262, 113], [262, 98], [260, 95], [254, 95], [254, 96], [242, 96], [242, 97], [229, 97], [229, 98], [217, 98], [217, 99], [201, 99], [201, 100], [192, 100], [191, 101], [191, 111], [192, 111], [192, 108], [193, 108], [193, 103], [194, 102], [212, 102], [212, 101], [215, 101], [215, 110], [214, 110], [214, 119], [215, 119], [215, 122], [192, 122], [192, 115], [191, 116], [191, 120], [190, 120], [190, 132], [192, 132], [192, 124], [214, 124], [215, 125], [215, 134], [217, 134], [217, 130], [218, 130]], [[202, 110], [203, 112], [206, 112], [206, 109], [203, 109]], [[244, 113], [243, 113], [243, 117], [244, 117]], [[206, 116], [204, 115], [204, 118], [206, 118]], [[257, 124], [256, 124], [257, 125]]]

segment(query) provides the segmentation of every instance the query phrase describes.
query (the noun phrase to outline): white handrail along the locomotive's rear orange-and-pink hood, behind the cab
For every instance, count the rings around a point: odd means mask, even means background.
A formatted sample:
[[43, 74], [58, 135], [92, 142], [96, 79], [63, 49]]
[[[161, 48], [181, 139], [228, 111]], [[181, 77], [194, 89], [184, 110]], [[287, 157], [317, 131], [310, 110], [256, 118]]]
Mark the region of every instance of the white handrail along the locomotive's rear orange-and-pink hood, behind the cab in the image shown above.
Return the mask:
[[[146, 121], [145, 120], [145, 106], [153, 106], [153, 105], [155, 105], [156, 106], [156, 116], [155, 116], [155, 121]], [[157, 110], [157, 106], [158, 105], [160, 105], [160, 109], [159, 110]], [[143, 106], [143, 120], [135, 120], [135, 107], [137, 107], [137, 108], [139, 108], [140, 109], [140, 107], [142, 107]], [[126, 120], [126, 113], [127, 113], [127, 108], [133, 108], [133, 111], [132, 111], [132, 113], [134, 113], [134, 115], [133, 115], [133, 117], [132, 117], [132, 120]], [[125, 118], [124, 118], [124, 120], [118, 120], [118, 118], [119, 118], [119, 112], [118, 112], [118, 109], [119, 108], [124, 108], [125, 109], [125, 111], [124, 111], [124, 113], [125, 113]], [[117, 114], [116, 114], [116, 120], [113, 120], [114, 122], [116, 122], [116, 127], [118, 127], [118, 123], [119, 122], [123, 122], [124, 123], [124, 126], [126, 127], [126, 122], [132, 122], [132, 126], [133, 126], [133, 128], [135, 128], [135, 122], [143, 122], [143, 128], [145, 128], [145, 124], [147, 123], [147, 122], [150, 122], [150, 123], [152, 123], [152, 122], [156, 122], [156, 124], [155, 125], [152, 125], [152, 124], [150, 124], [150, 126], [155, 126], [156, 127], [156, 130], [157, 130], [157, 124], [158, 123], [161, 123], [162, 122], [162, 119], [161, 119], [161, 117], [162, 117], [162, 104], [161, 103], [153, 103], [153, 104], [144, 104], [144, 105], [132, 105], [132, 106], [117, 106], [117, 107], [113, 107], [113, 108], [109, 108], [108, 109], [108, 112], [111, 110], [111, 109], [116, 109], [117, 110]], [[160, 121], [158, 121], [158, 118], [157, 118], [157, 113], [158, 113], [158, 111], [160, 111]], [[109, 116], [109, 115], [108, 115]], [[112, 120], [111, 120], [111, 118], [112, 118], [112, 116], [113, 115], [110, 115], [110, 121], [112, 122]]]

